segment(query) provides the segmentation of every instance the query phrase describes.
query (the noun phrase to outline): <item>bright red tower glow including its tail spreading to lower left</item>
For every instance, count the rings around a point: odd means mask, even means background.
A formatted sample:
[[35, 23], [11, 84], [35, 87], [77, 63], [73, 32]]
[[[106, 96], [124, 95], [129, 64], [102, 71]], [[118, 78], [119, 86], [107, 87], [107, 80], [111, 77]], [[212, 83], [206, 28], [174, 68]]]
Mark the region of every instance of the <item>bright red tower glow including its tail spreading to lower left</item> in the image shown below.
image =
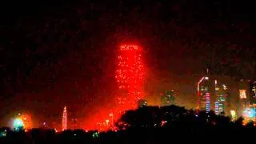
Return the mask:
[[[126, 110], [137, 108], [138, 99], [143, 96], [146, 68], [142, 62], [141, 48], [137, 45], [122, 45], [118, 50], [118, 67], [115, 78], [118, 83], [116, 105], [111, 110], [99, 111], [91, 121], [98, 130], [114, 129], [114, 122]], [[99, 122], [100, 121], [100, 122]], [[87, 127], [86, 130], [92, 129]]]

